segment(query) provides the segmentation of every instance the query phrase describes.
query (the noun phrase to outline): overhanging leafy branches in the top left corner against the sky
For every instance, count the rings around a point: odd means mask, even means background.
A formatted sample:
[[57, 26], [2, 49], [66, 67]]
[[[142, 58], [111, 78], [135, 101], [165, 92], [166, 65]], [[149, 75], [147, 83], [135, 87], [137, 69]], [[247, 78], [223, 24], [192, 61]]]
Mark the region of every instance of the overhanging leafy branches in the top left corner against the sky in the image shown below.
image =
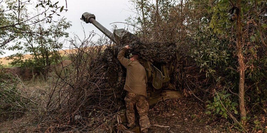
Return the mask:
[[[35, 7], [32, 5], [36, 5]], [[29, 13], [28, 9], [33, 9], [35, 13]], [[64, 6], [58, 6], [58, 2], [50, 0], [7, 0], [0, 1], [0, 54], [7, 47], [9, 42], [18, 39], [22, 34], [40, 35], [27, 29], [38, 22], [52, 22], [54, 15], [59, 15]], [[37, 11], [38, 10], [38, 11]], [[60, 15], [59, 15], [60, 16]]]

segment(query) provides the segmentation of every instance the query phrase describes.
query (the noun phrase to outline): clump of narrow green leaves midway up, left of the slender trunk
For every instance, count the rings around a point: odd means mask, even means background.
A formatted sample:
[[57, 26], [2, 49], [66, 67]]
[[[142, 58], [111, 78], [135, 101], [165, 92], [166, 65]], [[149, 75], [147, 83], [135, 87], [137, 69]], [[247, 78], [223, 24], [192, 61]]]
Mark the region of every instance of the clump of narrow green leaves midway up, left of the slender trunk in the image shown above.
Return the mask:
[[191, 57], [200, 67], [200, 72], [205, 72], [207, 78], [214, 78], [219, 82], [220, 77], [232, 77], [236, 73], [233, 69], [237, 60], [233, 57], [234, 49], [229, 45], [231, 42], [209, 29], [196, 33], [195, 41], [197, 43], [192, 46]]

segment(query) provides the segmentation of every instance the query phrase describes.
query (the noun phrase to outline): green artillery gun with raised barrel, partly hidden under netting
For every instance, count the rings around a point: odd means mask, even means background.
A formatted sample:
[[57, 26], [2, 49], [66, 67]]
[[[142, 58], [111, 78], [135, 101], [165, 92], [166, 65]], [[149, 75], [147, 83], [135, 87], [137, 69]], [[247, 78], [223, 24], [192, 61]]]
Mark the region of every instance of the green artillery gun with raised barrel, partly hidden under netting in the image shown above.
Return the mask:
[[[96, 21], [95, 15], [85, 12], [82, 15], [81, 20], [86, 23], [93, 24], [96, 28], [98, 28], [103, 34], [105, 34], [110, 40], [112, 40], [115, 44], [119, 44], [124, 39], [124, 43], [130, 44], [135, 41], [136, 37], [127, 37], [128, 35], [133, 35], [125, 29], [117, 29], [111, 33], [108, 29], [106, 29], [103, 25], [101, 25], [98, 21]], [[126, 41], [125, 41], [125, 38]], [[122, 45], [126, 45], [122, 44]], [[131, 46], [130, 46], [131, 47]], [[125, 54], [127, 56], [127, 54]], [[144, 66], [147, 79], [148, 79], [148, 87], [147, 87], [147, 101], [149, 105], [155, 105], [157, 102], [164, 101], [166, 99], [174, 99], [183, 97], [182, 92], [176, 89], [175, 85], [172, 84], [171, 74], [174, 73], [174, 65], [172, 63], [159, 63], [159, 62], [151, 62], [150, 60], [139, 59], [141, 65]]]

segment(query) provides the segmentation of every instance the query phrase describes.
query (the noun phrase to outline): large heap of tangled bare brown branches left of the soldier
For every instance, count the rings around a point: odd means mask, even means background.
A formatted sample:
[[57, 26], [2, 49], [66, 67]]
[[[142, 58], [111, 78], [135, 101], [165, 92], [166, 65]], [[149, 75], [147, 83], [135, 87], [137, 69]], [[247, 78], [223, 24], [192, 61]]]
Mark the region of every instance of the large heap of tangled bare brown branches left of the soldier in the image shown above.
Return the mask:
[[[47, 113], [36, 130], [112, 130], [113, 113], [122, 105], [118, 93], [122, 92], [122, 83], [125, 79], [121, 79], [121, 84], [111, 84], [117, 82], [119, 76], [123, 76], [119, 63], [110, 60], [108, 50], [104, 50], [112, 46], [104, 45], [107, 44], [107, 40], [93, 43], [90, 39], [70, 40], [74, 46], [73, 52], [68, 55], [71, 63], [60, 63], [55, 66], [52, 77], [58, 78], [53, 79], [54, 86], [50, 88], [46, 105]], [[80, 41], [80, 44], [77, 44], [77, 41]]]

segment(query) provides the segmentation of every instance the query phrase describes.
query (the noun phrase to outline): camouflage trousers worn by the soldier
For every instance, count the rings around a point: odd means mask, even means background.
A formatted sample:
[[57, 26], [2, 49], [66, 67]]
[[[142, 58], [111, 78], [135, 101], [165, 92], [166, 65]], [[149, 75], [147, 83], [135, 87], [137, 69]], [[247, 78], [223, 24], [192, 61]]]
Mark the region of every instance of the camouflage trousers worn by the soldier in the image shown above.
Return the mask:
[[126, 116], [128, 121], [128, 127], [132, 128], [135, 126], [134, 106], [136, 106], [137, 112], [140, 116], [139, 124], [141, 132], [147, 132], [148, 128], [150, 127], [150, 121], [149, 118], [147, 117], [149, 110], [147, 99], [144, 96], [127, 92], [124, 100], [126, 104]]

